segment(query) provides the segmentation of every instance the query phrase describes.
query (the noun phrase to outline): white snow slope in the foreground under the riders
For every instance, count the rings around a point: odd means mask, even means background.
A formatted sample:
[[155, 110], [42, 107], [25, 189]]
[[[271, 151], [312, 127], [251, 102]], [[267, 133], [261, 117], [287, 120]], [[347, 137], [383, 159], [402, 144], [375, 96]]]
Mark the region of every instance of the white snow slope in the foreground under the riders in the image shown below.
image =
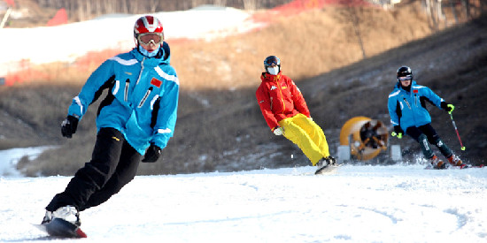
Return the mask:
[[[143, 165], [141, 165], [143, 166]], [[487, 169], [311, 166], [138, 176], [81, 213], [63, 242], [486, 242]], [[67, 177], [0, 178], [0, 241], [50, 239], [30, 224]]]

